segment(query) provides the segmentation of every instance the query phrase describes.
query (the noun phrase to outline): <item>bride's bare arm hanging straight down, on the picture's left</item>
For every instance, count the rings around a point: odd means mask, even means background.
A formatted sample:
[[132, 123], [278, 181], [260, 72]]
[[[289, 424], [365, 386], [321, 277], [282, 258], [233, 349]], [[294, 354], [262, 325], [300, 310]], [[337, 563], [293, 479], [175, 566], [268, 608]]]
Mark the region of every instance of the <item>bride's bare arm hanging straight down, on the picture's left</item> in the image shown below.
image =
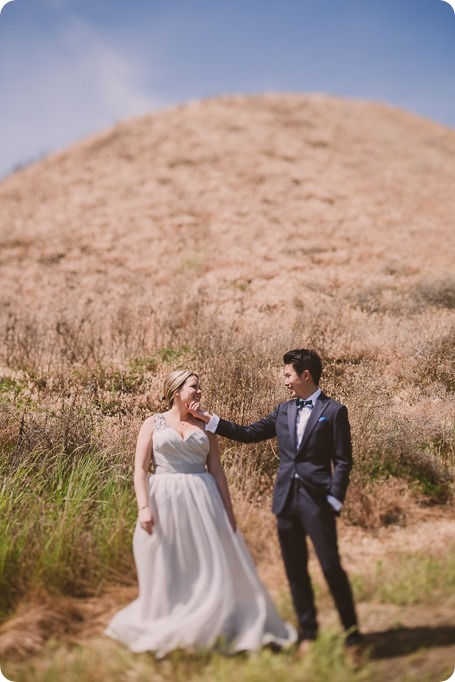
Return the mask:
[[148, 470], [152, 458], [152, 436], [155, 420], [149, 417], [142, 424], [137, 437], [134, 457], [134, 490], [136, 492], [138, 518], [141, 527], [152, 534], [153, 516], [149, 506]]

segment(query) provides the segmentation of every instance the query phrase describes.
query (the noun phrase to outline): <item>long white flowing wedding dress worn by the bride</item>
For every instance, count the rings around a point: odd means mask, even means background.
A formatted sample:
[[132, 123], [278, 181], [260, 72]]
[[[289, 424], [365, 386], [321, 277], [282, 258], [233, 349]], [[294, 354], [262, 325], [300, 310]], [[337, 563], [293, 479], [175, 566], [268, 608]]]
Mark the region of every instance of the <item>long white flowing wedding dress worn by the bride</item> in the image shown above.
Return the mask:
[[289, 646], [296, 631], [279, 617], [206, 470], [207, 435], [198, 429], [182, 439], [163, 415], [155, 424], [155, 525], [149, 535], [137, 522], [133, 537], [139, 596], [105, 634], [157, 656], [216, 645], [230, 653]]

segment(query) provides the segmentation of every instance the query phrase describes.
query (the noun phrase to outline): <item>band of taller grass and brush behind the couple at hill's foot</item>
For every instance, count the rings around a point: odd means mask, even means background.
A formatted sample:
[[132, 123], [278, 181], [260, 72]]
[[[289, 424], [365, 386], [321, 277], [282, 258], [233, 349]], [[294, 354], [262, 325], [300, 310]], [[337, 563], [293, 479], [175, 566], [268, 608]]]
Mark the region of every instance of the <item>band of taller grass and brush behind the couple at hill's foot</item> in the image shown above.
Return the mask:
[[[199, 373], [212, 410], [249, 422], [286, 399], [283, 352], [315, 347], [325, 361], [323, 388], [347, 404], [352, 423], [356, 466], [345, 517], [371, 527], [399, 521], [410, 496], [446, 503], [455, 468], [454, 410], [448, 399], [429, 409], [428, 395], [447, 398], [454, 385], [447, 330], [408, 357], [396, 346], [381, 353], [371, 339], [359, 341], [351, 323], [327, 315], [273, 335], [236, 332], [196, 304], [140, 316], [123, 310], [99, 321], [62, 317], [47, 325], [11, 316], [0, 380], [3, 616], [37, 587], [83, 595], [114, 575], [134, 577], [135, 439], [141, 421], [165, 409], [162, 381], [176, 367]], [[422, 357], [443, 372], [416, 384]], [[403, 390], [412, 399], [397, 400]], [[268, 508], [275, 442], [224, 441], [222, 454], [235, 499]], [[389, 494], [396, 482], [407, 486], [408, 497]], [[253, 554], [263, 552], [261, 533], [248, 534]]]

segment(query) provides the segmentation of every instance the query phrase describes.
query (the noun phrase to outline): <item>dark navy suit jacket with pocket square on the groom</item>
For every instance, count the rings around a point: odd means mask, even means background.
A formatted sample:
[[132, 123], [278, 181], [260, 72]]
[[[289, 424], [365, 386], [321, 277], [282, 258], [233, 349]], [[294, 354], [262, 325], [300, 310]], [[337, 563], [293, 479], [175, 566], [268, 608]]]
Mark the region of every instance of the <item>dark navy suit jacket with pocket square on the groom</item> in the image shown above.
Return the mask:
[[249, 426], [220, 419], [216, 432], [241, 443], [278, 438], [280, 466], [272, 511], [279, 514], [295, 474], [308, 492], [325, 500], [333, 495], [344, 501], [352, 469], [351, 431], [344, 405], [320, 393], [311, 411], [299, 447], [296, 443], [296, 400], [280, 403], [276, 410]]

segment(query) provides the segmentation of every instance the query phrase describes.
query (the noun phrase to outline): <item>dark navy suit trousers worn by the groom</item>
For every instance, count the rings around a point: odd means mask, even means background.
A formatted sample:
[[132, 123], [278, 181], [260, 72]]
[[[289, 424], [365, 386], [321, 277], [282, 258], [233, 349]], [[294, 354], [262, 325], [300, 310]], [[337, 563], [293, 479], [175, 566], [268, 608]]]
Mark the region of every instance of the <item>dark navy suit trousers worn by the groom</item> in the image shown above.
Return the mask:
[[310, 537], [322, 572], [347, 634], [346, 643], [360, 638], [351, 587], [338, 553], [336, 519], [326, 493], [309, 490], [294, 479], [283, 511], [277, 515], [278, 537], [283, 554], [300, 639], [314, 639], [318, 624], [314, 594], [308, 574], [307, 535]]

